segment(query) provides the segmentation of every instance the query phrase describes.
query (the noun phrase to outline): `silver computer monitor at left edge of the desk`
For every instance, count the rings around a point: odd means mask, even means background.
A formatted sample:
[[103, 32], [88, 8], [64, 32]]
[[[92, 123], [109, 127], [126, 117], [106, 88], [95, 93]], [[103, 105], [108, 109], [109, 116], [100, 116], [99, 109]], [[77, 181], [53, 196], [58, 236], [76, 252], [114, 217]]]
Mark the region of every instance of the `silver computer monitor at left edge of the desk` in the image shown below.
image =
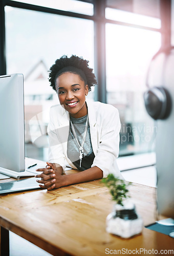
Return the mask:
[[24, 172], [23, 74], [0, 76], [0, 167]]

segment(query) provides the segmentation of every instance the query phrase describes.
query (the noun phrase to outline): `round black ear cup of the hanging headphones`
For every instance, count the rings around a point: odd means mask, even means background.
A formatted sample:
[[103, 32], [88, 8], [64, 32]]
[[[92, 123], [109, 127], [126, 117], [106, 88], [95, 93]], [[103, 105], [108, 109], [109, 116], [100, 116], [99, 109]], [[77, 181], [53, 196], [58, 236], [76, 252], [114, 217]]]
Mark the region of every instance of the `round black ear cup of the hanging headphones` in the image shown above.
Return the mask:
[[171, 111], [171, 98], [163, 87], [153, 87], [144, 93], [144, 103], [147, 113], [157, 119], [165, 119]]

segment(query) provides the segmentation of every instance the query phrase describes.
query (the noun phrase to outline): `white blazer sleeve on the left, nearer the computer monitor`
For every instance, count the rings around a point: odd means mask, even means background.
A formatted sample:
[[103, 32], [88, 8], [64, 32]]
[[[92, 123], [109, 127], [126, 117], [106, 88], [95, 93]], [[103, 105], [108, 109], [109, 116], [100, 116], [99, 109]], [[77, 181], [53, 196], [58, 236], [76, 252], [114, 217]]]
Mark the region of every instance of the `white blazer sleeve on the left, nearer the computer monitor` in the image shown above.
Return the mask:
[[58, 163], [64, 170], [66, 168], [66, 156], [63, 153], [62, 144], [56, 129], [58, 129], [58, 127], [54, 124], [54, 114], [50, 111], [50, 122], [48, 124], [49, 161], [51, 163]]

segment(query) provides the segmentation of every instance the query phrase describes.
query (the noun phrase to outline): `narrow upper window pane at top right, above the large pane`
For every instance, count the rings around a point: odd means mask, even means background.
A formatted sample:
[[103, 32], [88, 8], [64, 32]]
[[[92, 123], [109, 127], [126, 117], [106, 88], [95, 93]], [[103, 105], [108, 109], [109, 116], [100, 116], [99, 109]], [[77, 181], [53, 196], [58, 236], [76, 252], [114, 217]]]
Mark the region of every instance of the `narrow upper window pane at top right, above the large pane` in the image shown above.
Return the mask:
[[125, 22], [140, 26], [146, 26], [150, 28], [161, 28], [161, 20], [159, 18], [148, 17], [145, 15], [135, 14], [131, 12], [121, 11], [112, 8], [105, 9], [105, 16], [108, 19], [117, 20], [119, 22]]

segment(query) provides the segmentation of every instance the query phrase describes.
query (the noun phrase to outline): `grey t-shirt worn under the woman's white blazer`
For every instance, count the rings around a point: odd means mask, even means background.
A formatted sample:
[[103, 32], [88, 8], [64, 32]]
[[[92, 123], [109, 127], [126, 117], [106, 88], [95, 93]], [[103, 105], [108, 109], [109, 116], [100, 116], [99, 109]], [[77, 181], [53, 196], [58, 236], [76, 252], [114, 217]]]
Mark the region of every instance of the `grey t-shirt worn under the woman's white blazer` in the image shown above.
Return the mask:
[[[73, 118], [70, 116], [70, 120], [73, 122], [74, 129], [80, 145], [83, 138], [87, 116], [88, 115], [80, 118]], [[77, 144], [76, 139], [74, 138], [72, 128], [71, 128], [71, 123], [70, 123], [70, 130], [69, 130], [69, 137], [68, 137], [68, 144], [67, 144], [67, 155], [68, 155], [68, 158], [71, 160], [71, 162], [76, 166], [78, 170], [85, 170], [85, 169], [91, 168], [91, 165], [93, 164], [93, 161], [94, 161], [95, 155], [94, 155], [92, 144], [91, 144], [90, 124], [88, 126], [88, 131], [86, 133], [83, 150], [84, 150], [84, 153], [83, 153], [83, 158], [82, 158], [81, 167], [80, 167], [79, 146]]]

